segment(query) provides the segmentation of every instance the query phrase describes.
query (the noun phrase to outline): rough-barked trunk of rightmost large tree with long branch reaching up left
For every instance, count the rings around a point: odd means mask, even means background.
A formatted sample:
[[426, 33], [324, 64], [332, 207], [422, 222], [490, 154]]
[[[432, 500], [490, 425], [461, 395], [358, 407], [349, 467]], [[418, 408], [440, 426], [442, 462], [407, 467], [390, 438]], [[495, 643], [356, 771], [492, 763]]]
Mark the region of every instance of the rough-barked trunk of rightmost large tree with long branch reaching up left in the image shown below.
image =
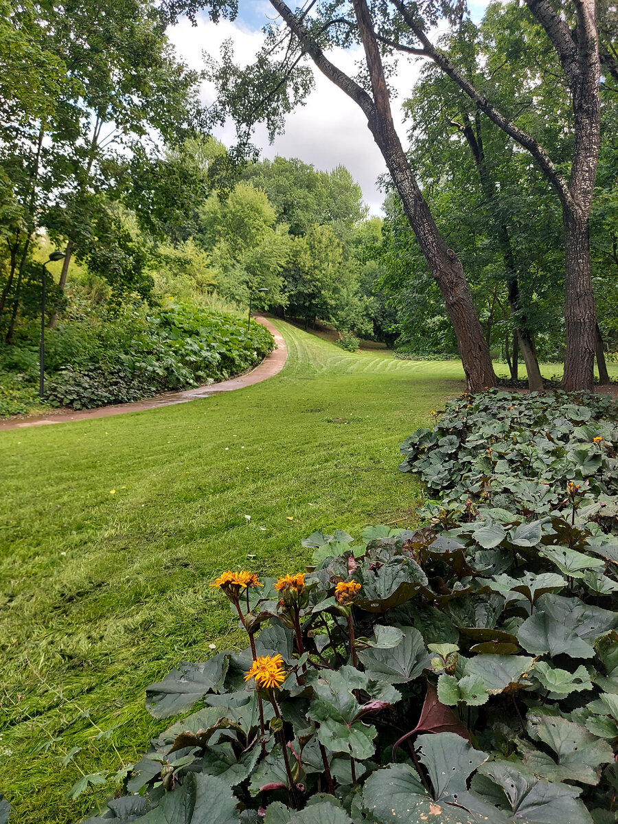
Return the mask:
[[[554, 186], [562, 205], [564, 224], [564, 316], [566, 321], [566, 357], [563, 387], [566, 390], [594, 389], [594, 339], [596, 310], [590, 277], [588, 219], [592, 190], [597, 174], [600, 99], [599, 44], [594, 0], [574, 0], [576, 25], [569, 28], [563, 16], [549, 0], [526, 0], [558, 55], [571, 96], [574, 113], [574, 154], [569, 180], [555, 168], [551, 158], [535, 138], [520, 129], [480, 94], [474, 84], [459, 71], [424, 30], [404, 0], [391, 0], [410, 31], [432, 59], [457, 86], [475, 101], [475, 105], [530, 152], [547, 180]], [[393, 44], [397, 48], [397, 44]], [[406, 49], [404, 49], [406, 50]], [[410, 50], [410, 49], [408, 49]], [[572, 236], [567, 237], [568, 233]]]

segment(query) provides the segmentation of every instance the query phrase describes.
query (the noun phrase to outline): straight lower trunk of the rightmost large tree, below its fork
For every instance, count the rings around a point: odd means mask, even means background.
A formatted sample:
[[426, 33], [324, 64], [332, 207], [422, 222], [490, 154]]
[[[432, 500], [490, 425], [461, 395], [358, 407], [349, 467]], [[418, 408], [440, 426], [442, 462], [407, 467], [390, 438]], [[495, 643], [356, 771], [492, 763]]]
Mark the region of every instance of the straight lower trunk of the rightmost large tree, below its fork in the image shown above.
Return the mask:
[[597, 312], [592, 294], [588, 215], [578, 208], [564, 208], [563, 219], [566, 356], [562, 386], [565, 391], [592, 392]]

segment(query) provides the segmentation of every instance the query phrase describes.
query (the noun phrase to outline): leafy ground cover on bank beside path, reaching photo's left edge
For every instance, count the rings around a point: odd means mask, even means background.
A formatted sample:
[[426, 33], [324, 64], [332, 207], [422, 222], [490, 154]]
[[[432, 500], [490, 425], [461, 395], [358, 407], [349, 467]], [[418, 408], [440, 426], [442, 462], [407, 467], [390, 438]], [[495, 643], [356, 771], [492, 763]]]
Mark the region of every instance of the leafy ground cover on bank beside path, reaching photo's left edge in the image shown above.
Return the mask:
[[[63, 321], [46, 334], [46, 402], [91, 409], [157, 392], [222, 381], [254, 367], [273, 348], [260, 324], [229, 312], [166, 301], [118, 318]], [[36, 336], [0, 352], [0, 416], [26, 414], [38, 400]]]

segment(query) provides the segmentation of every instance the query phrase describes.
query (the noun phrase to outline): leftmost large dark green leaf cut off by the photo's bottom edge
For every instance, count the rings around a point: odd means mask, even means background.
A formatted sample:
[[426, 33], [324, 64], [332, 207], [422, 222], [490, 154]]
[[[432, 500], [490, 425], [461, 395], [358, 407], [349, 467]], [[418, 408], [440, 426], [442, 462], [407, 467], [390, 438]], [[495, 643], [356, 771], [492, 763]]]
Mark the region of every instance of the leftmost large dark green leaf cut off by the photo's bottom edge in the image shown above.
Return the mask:
[[238, 801], [229, 784], [214, 775], [188, 773], [185, 783], [166, 793], [143, 824], [238, 824]]

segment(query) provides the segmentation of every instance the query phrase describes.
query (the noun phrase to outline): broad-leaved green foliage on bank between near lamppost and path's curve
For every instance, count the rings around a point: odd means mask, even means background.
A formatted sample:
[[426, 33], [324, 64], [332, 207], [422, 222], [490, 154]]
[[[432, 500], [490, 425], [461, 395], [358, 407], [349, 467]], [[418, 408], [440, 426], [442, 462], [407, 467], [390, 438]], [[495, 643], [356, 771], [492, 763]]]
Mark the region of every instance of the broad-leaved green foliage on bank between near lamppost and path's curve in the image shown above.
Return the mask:
[[105, 323], [89, 334], [82, 325], [68, 325], [50, 335], [49, 366], [63, 366], [46, 385], [49, 403], [90, 409], [221, 381], [273, 349], [272, 336], [259, 324], [247, 331], [237, 316], [169, 303], [147, 318], [129, 316], [129, 328]]

